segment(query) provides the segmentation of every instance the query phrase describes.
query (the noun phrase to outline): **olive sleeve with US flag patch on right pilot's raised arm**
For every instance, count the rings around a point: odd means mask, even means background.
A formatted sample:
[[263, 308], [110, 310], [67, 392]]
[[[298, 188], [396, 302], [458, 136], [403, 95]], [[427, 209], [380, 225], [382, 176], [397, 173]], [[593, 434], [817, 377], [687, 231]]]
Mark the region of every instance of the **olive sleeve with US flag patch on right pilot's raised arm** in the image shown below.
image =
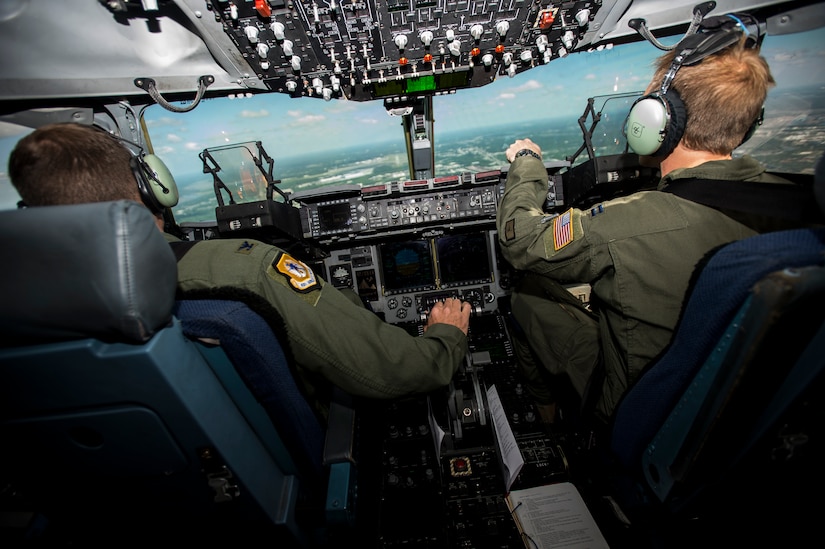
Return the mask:
[[593, 273], [582, 212], [545, 213], [547, 189], [547, 170], [540, 160], [523, 156], [511, 164], [496, 218], [502, 254], [516, 269], [560, 282], [587, 282]]

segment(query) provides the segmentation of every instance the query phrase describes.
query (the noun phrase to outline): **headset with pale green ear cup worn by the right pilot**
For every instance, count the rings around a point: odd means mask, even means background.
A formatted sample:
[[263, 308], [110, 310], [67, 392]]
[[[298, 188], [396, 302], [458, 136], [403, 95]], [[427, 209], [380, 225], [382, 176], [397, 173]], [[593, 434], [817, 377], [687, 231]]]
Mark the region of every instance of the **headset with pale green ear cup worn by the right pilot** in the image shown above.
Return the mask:
[[[702, 21], [698, 32], [684, 37], [677, 47], [659, 89], [637, 99], [630, 107], [623, 132], [633, 152], [642, 156], [665, 157], [673, 152], [687, 126], [685, 104], [670, 85], [683, 66], [695, 65], [703, 59], [737, 43], [746, 35], [746, 47], [758, 48], [765, 37], [765, 24], [750, 15], [729, 14]], [[742, 143], [750, 139], [762, 124], [765, 109], [754, 121]], [[740, 145], [742, 144], [740, 143]]]

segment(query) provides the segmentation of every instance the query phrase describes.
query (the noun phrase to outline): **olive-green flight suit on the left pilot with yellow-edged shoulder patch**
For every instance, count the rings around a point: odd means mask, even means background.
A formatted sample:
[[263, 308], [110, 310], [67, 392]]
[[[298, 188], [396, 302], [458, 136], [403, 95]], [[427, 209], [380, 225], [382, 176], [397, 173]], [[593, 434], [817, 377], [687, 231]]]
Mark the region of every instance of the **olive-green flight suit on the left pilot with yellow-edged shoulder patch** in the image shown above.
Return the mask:
[[318, 395], [330, 383], [351, 395], [378, 399], [443, 387], [468, 351], [467, 336], [457, 327], [434, 324], [423, 336], [411, 336], [354, 303], [303, 262], [256, 240], [204, 240], [180, 259], [180, 291], [220, 288], [249, 290], [276, 309], [298, 381], [321, 406], [324, 398]]

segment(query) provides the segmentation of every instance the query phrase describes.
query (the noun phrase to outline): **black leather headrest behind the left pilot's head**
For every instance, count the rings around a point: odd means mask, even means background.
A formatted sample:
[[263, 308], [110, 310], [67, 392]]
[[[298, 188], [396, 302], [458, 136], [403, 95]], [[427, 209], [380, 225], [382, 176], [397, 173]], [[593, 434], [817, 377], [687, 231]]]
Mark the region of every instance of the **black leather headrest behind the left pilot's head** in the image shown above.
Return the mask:
[[141, 343], [168, 325], [177, 262], [154, 219], [127, 200], [0, 212], [0, 343]]

